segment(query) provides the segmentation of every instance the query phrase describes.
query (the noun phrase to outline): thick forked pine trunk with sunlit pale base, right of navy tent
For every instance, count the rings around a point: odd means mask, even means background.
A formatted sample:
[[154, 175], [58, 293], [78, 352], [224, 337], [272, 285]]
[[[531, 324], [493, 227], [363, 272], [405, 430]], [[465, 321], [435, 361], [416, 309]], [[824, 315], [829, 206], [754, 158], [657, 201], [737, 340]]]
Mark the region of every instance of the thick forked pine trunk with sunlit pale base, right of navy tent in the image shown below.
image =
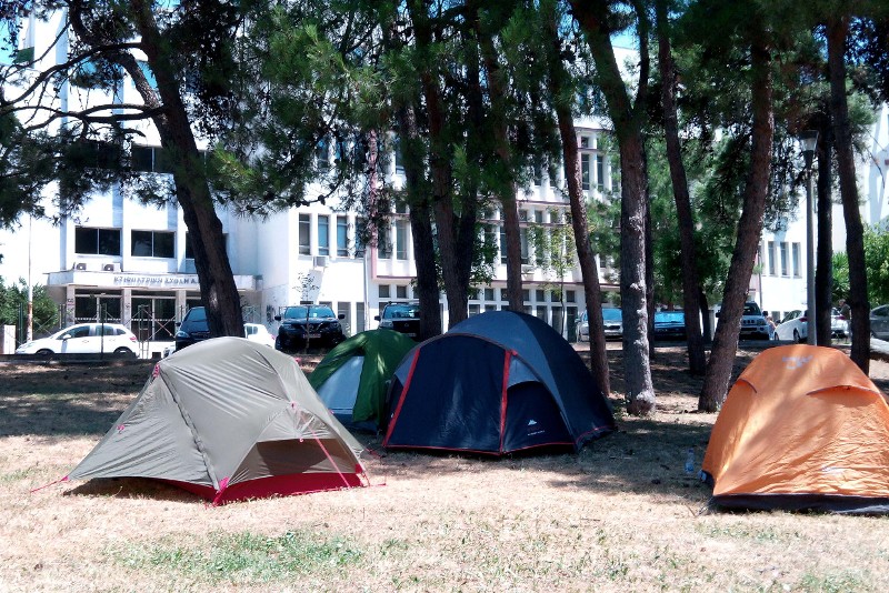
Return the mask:
[[[647, 415], [655, 411], [655, 388], [648, 346], [648, 303], [646, 300], [646, 202], [641, 108], [633, 109], [621, 78], [611, 31], [602, 17], [608, 14], [607, 2], [571, 0], [575, 18], [583, 29], [596, 62], [597, 82], [602, 91], [608, 113], [615, 127], [620, 152], [620, 295], [623, 311], [623, 365], [627, 389], [627, 410]], [[639, 14], [639, 18], [645, 18]], [[646, 63], [642, 61], [642, 72]], [[640, 92], [647, 74], [640, 74]], [[643, 101], [641, 102], [643, 103]]]

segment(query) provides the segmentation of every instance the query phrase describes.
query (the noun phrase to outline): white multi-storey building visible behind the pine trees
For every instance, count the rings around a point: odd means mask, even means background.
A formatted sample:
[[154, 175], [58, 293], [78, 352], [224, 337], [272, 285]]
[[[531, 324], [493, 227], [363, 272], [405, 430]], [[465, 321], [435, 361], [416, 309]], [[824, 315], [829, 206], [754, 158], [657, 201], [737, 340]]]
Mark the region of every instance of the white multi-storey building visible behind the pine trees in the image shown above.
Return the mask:
[[[49, 21], [28, 17], [21, 34], [21, 50], [33, 48], [32, 56], [44, 56], [61, 28], [61, 13]], [[64, 34], [62, 44], [67, 42]], [[622, 56], [626, 61], [627, 53]], [[38, 68], [48, 68], [63, 50], [46, 52]], [[124, 80], [113, 96], [64, 84], [60, 108], [89, 104], [90, 101], [141, 102], [132, 83]], [[617, 191], [615, 171], [599, 135], [603, 122], [578, 121], [578, 147], [581, 151], [583, 190], [589, 200], [603, 192]], [[134, 149], [133, 159], [147, 174], [163, 172], [159, 139], [148, 123], [139, 124], [144, 134]], [[871, 159], [860, 163], [865, 220], [886, 217], [886, 170], [889, 153], [886, 147], [887, 113], [882, 109], [875, 125]], [[403, 183], [396, 159], [388, 159], [387, 180], [394, 187]], [[543, 168], [545, 169], [545, 168]], [[523, 221], [522, 255], [526, 311], [573, 338], [575, 320], [586, 306], [579, 270], [557, 278], [540, 265], [529, 240], [529, 230], [551, 230], [563, 225], [568, 209], [562, 173], [548, 179], [538, 175], [531, 187], [518, 192], [520, 219]], [[47, 190], [47, 199], [54, 190]], [[309, 191], [311, 194], [311, 189]], [[244, 220], [220, 210], [236, 284], [242, 295], [244, 321], [262, 322], [277, 332], [273, 318], [288, 304], [302, 301], [327, 303], [346, 316], [350, 333], [377, 326], [373, 316], [390, 300], [414, 298], [416, 275], [413, 249], [406, 211], [392, 212], [381, 244], [363, 249], [356, 240], [362, 223], [356, 212], [340, 211], [337, 204], [312, 204], [291, 209], [267, 220]], [[835, 214], [835, 228], [841, 228], [841, 212]], [[487, 223], [500, 235], [498, 212]], [[499, 241], [502, 244], [502, 240]], [[842, 239], [835, 237], [835, 249]], [[569, 249], [573, 251], [573, 245]], [[788, 221], [780, 233], [762, 239], [762, 273], [753, 284], [761, 306], [773, 312], [805, 309], [806, 239], [805, 219]], [[469, 313], [476, 314], [506, 308], [506, 260], [501, 249], [493, 281], [478, 287], [470, 294]], [[174, 333], [174, 323], [189, 306], [199, 303], [200, 292], [194, 262], [188, 244], [188, 230], [176, 204], [146, 207], [126, 198], [120, 188], [97, 194], [76, 218], [53, 227], [42, 220], [22, 220], [13, 231], [0, 231], [0, 277], [8, 283], [23, 278], [48, 287], [59, 303], [61, 323], [97, 319], [120, 320], [143, 340], [144, 353], [160, 352], [163, 342]], [[602, 263], [602, 262], [600, 262]], [[615, 271], [600, 265], [603, 290], [616, 291]], [[441, 303], [447, 328], [447, 308]], [[46, 330], [46, 329], [44, 329]]]

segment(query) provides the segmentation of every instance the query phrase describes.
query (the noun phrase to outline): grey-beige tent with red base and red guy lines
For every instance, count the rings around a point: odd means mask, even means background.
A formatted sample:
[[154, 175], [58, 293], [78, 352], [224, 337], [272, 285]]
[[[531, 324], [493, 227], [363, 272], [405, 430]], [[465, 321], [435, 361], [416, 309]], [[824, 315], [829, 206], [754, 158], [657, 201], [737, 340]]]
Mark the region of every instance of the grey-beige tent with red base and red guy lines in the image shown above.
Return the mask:
[[151, 478], [214, 504], [366, 485], [361, 444], [298, 363], [242, 338], [161, 360], [66, 478]]

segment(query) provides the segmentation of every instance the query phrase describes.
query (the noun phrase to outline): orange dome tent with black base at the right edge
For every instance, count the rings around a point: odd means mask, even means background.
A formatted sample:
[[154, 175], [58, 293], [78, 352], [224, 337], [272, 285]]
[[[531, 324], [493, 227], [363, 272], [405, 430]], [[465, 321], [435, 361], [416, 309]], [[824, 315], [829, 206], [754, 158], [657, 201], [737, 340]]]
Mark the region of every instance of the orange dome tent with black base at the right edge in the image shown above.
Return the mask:
[[703, 478], [741, 509], [889, 512], [889, 405], [839, 350], [766, 350], [731, 388]]

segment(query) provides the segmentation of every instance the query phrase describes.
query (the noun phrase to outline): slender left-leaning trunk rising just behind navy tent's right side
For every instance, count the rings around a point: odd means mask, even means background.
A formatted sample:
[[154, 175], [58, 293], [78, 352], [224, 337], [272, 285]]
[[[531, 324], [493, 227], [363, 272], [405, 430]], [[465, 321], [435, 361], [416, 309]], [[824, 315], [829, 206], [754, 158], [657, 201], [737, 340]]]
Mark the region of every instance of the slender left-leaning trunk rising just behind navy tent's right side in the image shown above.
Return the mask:
[[565, 97], [565, 82], [569, 74], [561, 60], [562, 44], [558, 36], [555, 13], [545, 16], [550, 33], [552, 48], [549, 52], [549, 91], [556, 103], [556, 117], [562, 143], [562, 161], [565, 180], [568, 185], [568, 200], [571, 204], [571, 227], [575, 231], [578, 265], [583, 278], [583, 296], [587, 302], [587, 323], [590, 334], [590, 366], [599, 391], [611, 393], [611, 379], [608, 369], [608, 351], [605, 341], [605, 323], [602, 321], [601, 287], [596, 254], [590, 244], [590, 231], [587, 222], [587, 201], [580, 181], [580, 154], [577, 145], [577, 132], [571, 114], [571, 104], [560, 100]]

